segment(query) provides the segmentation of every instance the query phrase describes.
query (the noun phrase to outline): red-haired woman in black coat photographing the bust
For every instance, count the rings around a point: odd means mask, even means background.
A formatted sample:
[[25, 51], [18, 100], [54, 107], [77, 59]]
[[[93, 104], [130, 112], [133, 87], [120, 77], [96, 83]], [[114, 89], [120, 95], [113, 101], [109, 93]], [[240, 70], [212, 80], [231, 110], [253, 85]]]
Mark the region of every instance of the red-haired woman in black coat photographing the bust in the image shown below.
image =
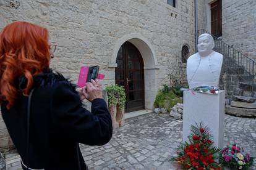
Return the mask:
[[[80, 89], [49, 69], [46, 28], [14, 22], [0, 33], [2, 118], [23, 169], [87, 169], [79, 143], [104, 145], [111, 116], [98, 80]], [[92, 102], [92, 113], [81, 100]]]

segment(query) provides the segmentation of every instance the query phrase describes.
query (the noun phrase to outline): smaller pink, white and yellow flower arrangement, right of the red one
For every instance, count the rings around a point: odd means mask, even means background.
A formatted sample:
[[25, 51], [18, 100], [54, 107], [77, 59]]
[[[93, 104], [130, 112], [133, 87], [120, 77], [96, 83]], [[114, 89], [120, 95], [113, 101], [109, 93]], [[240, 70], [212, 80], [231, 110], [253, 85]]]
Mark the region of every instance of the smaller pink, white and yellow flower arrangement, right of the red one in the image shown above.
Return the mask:
[[223, 148], [220, 154], [220, 163], [232, 169], [249, 169], [254, 162], [254, 158], [236, 144]]

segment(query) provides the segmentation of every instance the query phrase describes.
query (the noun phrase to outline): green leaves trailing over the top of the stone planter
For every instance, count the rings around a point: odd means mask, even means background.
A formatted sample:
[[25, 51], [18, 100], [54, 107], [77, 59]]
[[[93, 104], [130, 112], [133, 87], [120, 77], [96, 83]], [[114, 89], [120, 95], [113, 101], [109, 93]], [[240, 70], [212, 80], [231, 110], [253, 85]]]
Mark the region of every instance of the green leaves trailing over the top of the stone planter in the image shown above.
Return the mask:
[[118, 105], [119, 108], [124, 108], [126, 104], [126, 92], [124, 87], [118, 86], [117, 84], [111, 84], [106, 87], [108, 92], [108, 105]]

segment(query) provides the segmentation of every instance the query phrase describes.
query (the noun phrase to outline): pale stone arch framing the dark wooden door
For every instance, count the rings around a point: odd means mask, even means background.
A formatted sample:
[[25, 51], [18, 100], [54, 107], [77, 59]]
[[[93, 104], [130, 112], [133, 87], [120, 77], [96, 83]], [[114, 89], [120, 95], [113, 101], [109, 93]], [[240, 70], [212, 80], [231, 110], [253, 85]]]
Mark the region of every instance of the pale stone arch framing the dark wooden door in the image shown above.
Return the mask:
[[140, 34], [127, 34], [123, 36], [116, 42], [114, 46], [114, 52], [111, 57], [111, 63], [109, 63], [109, 65], [116, 67], [117, 53], [122, 44], [124, 44], [126, 41], [134, 44], [134, 46], [137, 47], [137, 49], [140, 51], [140, 54], [142, 55], [145, 79], [145, 108], [153, 109], [153, 103], [158, 91], [158, 87], [156, 86], [158, 84], [156, 82], [156, 74], [159, 68], [155, 51], [150, 42]]

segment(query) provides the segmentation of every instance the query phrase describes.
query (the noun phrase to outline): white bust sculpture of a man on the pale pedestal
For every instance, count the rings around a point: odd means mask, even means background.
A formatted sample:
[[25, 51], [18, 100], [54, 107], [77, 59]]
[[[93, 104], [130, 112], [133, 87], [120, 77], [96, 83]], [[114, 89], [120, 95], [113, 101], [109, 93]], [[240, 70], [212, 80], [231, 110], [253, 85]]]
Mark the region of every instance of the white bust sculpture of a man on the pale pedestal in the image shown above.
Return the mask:
[[213, 51], [215, 46], [210, 34], [198, 37], [198, 52], [187, 60], [187, 81], [189, 88], [198, 86], [218, 87], [223, 55]]

